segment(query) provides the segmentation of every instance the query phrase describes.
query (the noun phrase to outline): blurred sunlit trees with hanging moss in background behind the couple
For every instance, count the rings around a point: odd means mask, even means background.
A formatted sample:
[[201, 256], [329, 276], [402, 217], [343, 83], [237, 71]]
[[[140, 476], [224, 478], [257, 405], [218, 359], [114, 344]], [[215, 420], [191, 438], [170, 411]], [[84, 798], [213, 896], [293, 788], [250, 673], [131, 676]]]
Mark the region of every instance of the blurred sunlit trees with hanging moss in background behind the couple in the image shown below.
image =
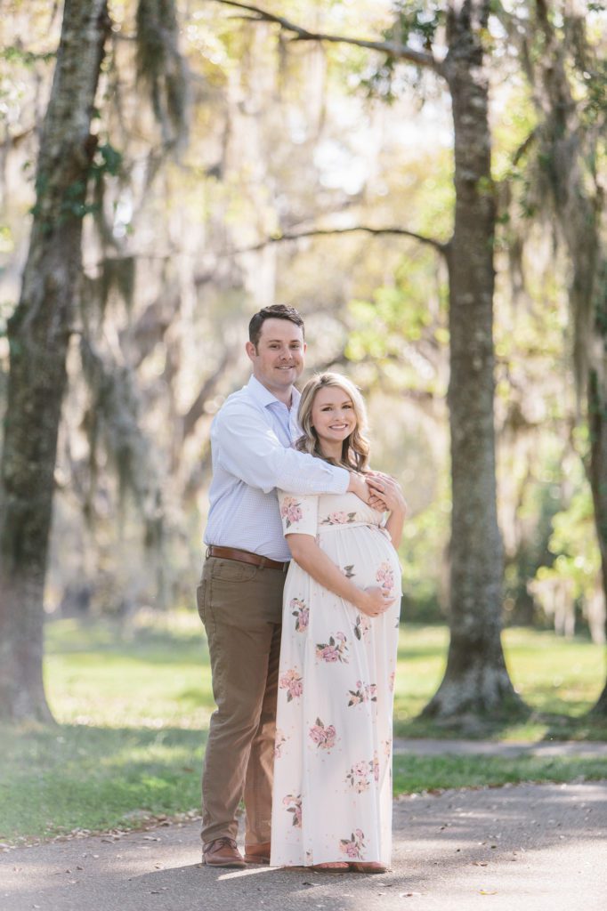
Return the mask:
[[[3, 413], [6, 324], [21, 294], [63, 13], [37, 0], [10, 7], [0, 25]], [[405, 43], [443, 59], [447, 7], [273, 0], [263, 8], [310, 31]], [[403, 615], [443, 621], [454, 558], [446, 86], [410, 61], [292, 40], [208, 0], [175, 4], [178, 34], [171, 8], [164, 0], [108, 5], [46, 613], [128, 618], [142, 607], [190, 606], [212, 416], [248, 375], [251, 313], [281, 301], [304, 314], [309, 368], [345, 371], [364, 390], [374, 463], [401, 480], [411, 507]], [[590, 393], [602, 402], [605, 15], [592, 3], [546, 9], [511, 0], [491, 5], [479, 40], [492, 179], [476, 189], [495, 200], [497, 217], [502, 616], [604, 640], [594, 521], [604, 487], [595, 482], [593, 500], [588, 481], [604, 457], [596, 445], [604, 429], [589, 429], [588, 418], [604, 406], [580, 403]], [[576, 202], [581, 221], [573, 222]], [[586, 275], [591, 241], [596, 268], [579, 302], [576, 276]], [[594, 376], [578, 395], [576, 370]]]

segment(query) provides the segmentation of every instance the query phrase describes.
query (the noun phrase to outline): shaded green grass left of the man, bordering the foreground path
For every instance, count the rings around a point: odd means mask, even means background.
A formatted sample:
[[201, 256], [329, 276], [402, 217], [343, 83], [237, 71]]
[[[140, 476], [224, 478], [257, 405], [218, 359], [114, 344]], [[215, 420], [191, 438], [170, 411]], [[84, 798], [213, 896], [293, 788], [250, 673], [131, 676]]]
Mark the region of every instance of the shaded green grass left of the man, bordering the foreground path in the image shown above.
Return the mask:
[[2, 735], [1, 841], [128, 829], [200, 804], [200, 732], [61, 725]]

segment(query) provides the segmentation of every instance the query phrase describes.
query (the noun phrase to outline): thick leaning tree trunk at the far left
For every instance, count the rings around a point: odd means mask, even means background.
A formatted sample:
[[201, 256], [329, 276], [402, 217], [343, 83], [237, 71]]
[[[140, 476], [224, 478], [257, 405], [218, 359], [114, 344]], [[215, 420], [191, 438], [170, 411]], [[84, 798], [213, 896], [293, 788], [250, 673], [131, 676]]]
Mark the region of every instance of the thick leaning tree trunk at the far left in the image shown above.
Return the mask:
[[51, 717], [42, 679], [46, 555], [95, 151], [90, 124], [108, 25], [107, 0], [66, 0], [40, 140], [23, 286], [8, 324], [0, 473], [0, 715], [10, 720]]

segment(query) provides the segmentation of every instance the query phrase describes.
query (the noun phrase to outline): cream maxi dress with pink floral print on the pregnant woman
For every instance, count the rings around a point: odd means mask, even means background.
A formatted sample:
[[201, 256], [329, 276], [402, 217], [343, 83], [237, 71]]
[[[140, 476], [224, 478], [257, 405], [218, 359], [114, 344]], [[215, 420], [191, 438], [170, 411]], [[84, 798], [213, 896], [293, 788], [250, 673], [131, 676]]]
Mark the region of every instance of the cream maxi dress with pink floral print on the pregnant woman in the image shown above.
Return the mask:
[[285, 535], [312, 535], [361, 589], [394, 597], [361, 614], [294, 561], [284, 587], [272, 814], [275, 866], [390, 863], [392, 706], [401, 573], [382, 517], [355, 494], [279, 491]]

